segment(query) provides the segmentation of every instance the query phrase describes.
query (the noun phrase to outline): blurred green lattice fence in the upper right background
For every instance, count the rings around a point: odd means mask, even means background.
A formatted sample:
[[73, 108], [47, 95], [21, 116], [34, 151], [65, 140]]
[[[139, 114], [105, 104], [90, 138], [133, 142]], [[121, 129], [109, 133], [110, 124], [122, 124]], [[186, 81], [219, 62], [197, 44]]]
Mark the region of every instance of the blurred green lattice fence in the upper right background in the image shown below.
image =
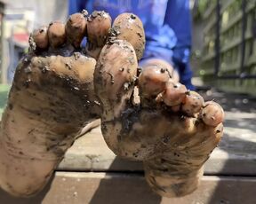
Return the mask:
[[197, 1], [192, 62], [204, 83], [256, 95], [255, 18], [254, 0]]

